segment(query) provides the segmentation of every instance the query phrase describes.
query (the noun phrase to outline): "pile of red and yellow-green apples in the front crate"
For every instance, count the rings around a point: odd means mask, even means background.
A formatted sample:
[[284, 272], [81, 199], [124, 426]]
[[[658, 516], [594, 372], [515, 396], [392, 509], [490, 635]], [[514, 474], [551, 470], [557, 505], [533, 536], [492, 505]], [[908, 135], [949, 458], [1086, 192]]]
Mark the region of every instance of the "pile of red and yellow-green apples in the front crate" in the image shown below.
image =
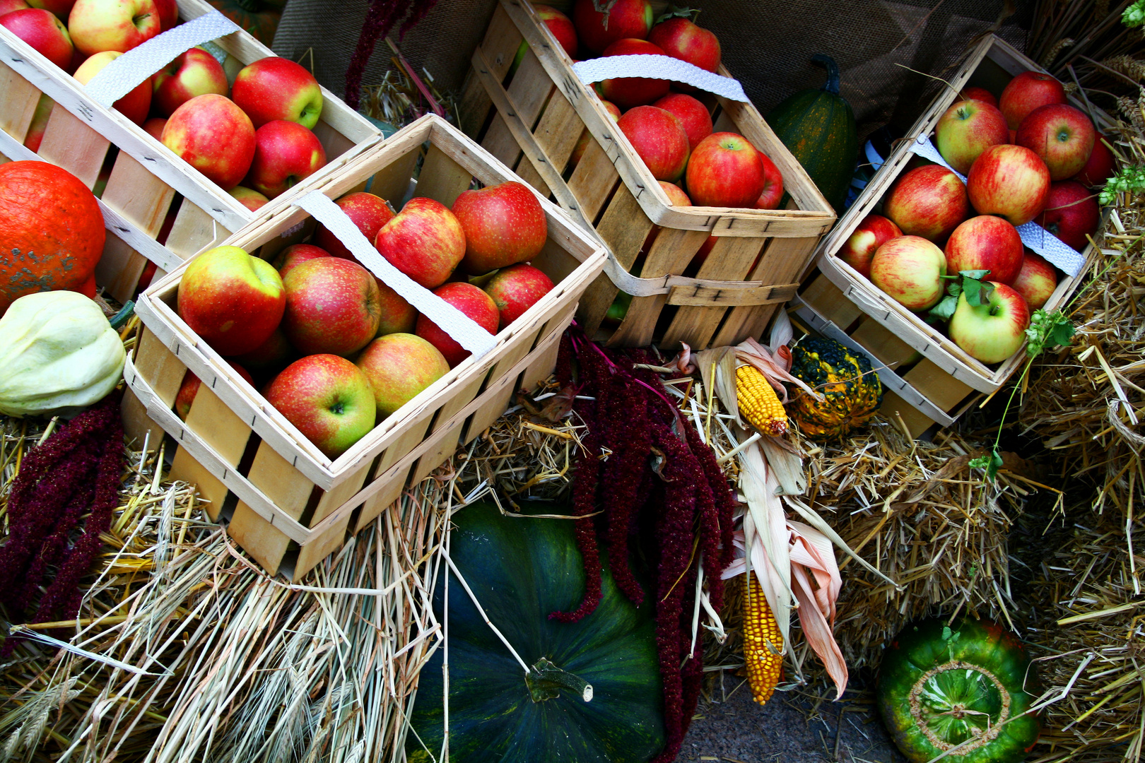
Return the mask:
[[[452, 209], [412, 198], [395, 215], [366, 192], [335, 204], [395, 268], [490, 334], [553, 288], [527, 264], [548, 225], [521, 183], [465, 191]], [[267, 400], [331, 459], [469, 356], [322, 225], [273, 264], [234, 246], [203, 253], [179, 284], [177, 311], [252, 386], [264, 380]], [[188, 372], [181, 418], [198, 388]]]

